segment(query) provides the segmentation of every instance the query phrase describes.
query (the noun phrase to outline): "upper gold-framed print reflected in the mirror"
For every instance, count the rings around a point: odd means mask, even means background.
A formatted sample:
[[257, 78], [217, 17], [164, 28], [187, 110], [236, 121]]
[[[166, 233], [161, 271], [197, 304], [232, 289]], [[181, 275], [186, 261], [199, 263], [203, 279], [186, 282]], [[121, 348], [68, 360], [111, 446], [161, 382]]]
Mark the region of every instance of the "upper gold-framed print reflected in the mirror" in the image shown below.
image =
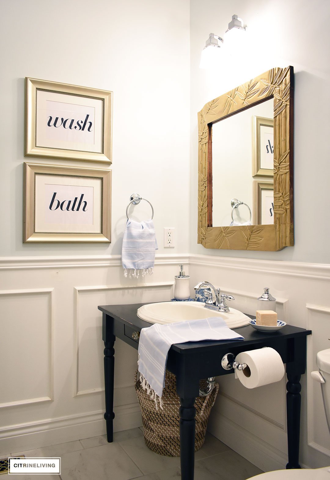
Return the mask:
[[274, 175], [274, 120], [253, 116], [252, 176]]

